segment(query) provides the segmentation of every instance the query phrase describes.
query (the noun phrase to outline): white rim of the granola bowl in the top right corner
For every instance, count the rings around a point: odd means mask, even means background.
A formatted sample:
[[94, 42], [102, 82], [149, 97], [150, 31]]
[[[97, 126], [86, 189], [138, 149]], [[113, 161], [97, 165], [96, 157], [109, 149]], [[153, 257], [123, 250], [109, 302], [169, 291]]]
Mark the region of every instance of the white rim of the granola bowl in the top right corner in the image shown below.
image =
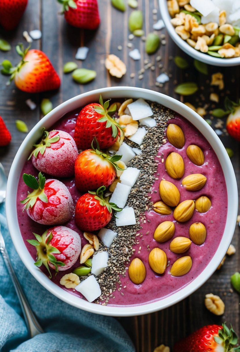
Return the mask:
[[167, 0], [159, 0], [159, 10], [170, 37], [177, 44], [177, 46], [179, 46], [179, 48], [186, 52], [188, 55], [194, 59], [197, 59], [198, 61], [205, 62], [206, 64], [214, 66], [230, 67], [240, 65], [240, 57], [233, 57], [230, 59], [214, 57], [192, 48], [175, 32], [175, 27], [173, 27], [170, 22], [171, 16], [168, 12]]

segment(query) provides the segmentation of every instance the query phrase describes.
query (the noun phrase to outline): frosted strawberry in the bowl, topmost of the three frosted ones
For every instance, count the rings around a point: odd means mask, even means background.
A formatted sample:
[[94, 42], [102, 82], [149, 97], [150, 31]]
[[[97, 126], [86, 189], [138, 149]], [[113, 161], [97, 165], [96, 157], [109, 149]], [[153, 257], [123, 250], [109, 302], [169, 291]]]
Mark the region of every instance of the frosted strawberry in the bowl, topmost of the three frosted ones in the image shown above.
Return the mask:
[[74, 175], [74, 164], [78, 150], [69, 133], [59, 130], [43, 131], [42, 140], [33, 145], [30, 158], [38, 171], [55, 177]]

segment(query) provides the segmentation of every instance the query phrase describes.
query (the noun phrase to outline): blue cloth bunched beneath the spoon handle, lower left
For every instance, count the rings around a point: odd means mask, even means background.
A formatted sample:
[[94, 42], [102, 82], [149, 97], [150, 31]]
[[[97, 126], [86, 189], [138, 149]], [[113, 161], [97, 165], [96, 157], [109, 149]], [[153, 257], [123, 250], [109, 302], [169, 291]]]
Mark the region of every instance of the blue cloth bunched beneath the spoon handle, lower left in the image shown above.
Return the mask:
[[14, 286], [0, 255], [0, 352], [133, 352], [134, 346], [116, 319], [70, 306], [45, 290], [21, 262], [0, 205], [1, 232], [12, 266], [44, 334], [32, 339]]

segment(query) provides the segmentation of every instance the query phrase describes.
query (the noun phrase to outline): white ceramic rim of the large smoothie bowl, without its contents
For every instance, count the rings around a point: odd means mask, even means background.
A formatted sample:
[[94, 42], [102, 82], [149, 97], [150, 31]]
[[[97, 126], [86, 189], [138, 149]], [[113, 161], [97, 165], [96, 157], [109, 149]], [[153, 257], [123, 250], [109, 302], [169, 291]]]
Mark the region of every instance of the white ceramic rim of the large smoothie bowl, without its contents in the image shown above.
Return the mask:
[[[17, 221], [16, 196], [18, 181], [23, 165], [32, 150], [32, 144], [36, 143], [36, 140], [40, 138], [39, 131], [42, 130], [42, 127], [45, 127], [48, 130], [48, 128], [51, 127], [65, 113], [84, 106], [90, 102], [98, 101], [100, 93], [105, 100], [108, 98], [144, 98], [146, 100], [156, 101], [157, 103], [160, 103], [176, 111], [178, 114], [183, 115], [187, 120], [194, 124], [196, 128], [198, 128], [198, 130], [207, 138], [213, 147], [217, 157], [219, 158], [227, 184], [228, 210], [225, 231], [223, 233], [221, 243], [209, 264], [202, 271], [202, 273], [192, 282], [190, 282], [186, 287], [173, 293], [169, 297], [165, 297], [159, 301], [146, 303], [139, 306], [101, 306], [100, 304], [90, 303], [86, 300], [82, 300], [81, 298], [63, 290], [61, 287], [58, 287], [48, 278], [48, 276], [46, 276], [39, 268], [33, 264], [34, 260], [32, 259], [25, 246]], [[183, 298], [189, 296], [192, 292], [198, 289], [213, 274], [227, 252], [235, 229], [237, 209], [238, 191], [232, 163], [230, 162], [225, 147], [222, 145], [220, 139], [217, 137], [212, 128], [207, 124], [207, 122], [204, 121], [204, 119], [202, 119], [189, 107], [169, 96], [153, 92], [151, 90], [134, 87], [112, 87], [93, 90], [91, 92], [84, 93], [76, 96], [75, 98], [69, 99], [68, 101], [53, 109], [48, 115], [46, 115], [42, 120], [38, 122], [38, 124], [29, 132], [21, 144], [17, 155], [14, 158], [7, 183], [7, 223], [14, 246], [26, 268], [31, 272], [31, 274], [40, 284], [42, 284], [53, 295], [60, 298], [61, 300], [77, 308], [88, 310], [89, 312], [112, 316], [133, 316], [155, 312], [157, 310], [172, 306], [173, 304], [181, 301]]]

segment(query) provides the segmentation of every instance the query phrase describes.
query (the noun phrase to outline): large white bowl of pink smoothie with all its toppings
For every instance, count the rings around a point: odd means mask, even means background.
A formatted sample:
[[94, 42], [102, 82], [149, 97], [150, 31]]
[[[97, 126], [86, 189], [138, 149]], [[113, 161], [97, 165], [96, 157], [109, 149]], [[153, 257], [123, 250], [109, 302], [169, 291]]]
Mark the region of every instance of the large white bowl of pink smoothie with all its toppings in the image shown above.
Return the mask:
[[227, 152], [198, 114], [113, 87], [38, 122], [13, 161], [6, 212], [21, 260], [53, 295], [131, 316], [171, 306], [213, 274], [237, 194]]

